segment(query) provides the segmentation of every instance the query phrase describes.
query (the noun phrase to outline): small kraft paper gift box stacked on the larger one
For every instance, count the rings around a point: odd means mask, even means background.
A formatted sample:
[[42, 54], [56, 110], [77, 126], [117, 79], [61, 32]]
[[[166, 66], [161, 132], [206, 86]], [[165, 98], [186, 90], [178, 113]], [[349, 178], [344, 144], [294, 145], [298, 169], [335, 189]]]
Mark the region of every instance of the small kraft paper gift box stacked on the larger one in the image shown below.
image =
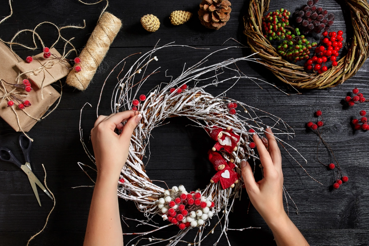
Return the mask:
[[[17, 67], [21, 73], [25, 73], [24, 77], [31, 80], [38, 88], [48, 86], [51, 83], [65, 77], [72, 67], [69, 62], [63, 62], [56, 57], [61, 58], [62, 55], [55, 49], [51, 48], [52, 54], [49, 58], [44, 58], [44, 52], [32, 56], [33, 61], [28, 63], [25, 60], [18, 62]], [[54, 56], [55, 55], [55, 56]]]

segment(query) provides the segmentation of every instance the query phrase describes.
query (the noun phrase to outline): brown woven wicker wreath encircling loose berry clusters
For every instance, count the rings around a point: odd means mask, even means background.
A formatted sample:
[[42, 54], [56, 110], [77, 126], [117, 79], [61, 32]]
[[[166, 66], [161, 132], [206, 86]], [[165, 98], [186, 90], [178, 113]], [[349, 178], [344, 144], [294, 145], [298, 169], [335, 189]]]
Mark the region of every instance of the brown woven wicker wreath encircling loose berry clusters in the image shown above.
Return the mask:
[[347, 55], [338, 61], [336, 67], [322, 74], [307, 72], [304, 67], [287, 62], [263, 37], [261, 19], [268, 11], [269, 0], [250, 1], [248, 14], [244, 17], [244, 34], [252, 52], [259, 52], [255, 55], [261, 58], [259, 62], [284, 83], [307, 89], [334, 87], [354, 76], [369, 56], [369, 5], [366, 0], [346, 0], [345, 3], [351, 12], [354, 37], [347, 46]]

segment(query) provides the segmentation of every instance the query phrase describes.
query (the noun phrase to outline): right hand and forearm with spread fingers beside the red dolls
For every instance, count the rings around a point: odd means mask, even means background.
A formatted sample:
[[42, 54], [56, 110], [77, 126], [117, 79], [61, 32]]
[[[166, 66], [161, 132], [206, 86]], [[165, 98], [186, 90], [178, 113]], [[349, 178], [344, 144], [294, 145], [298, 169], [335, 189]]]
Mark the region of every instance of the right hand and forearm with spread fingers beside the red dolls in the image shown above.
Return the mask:
[[242, 160], [242, 177], [252, 205], [273, 232], [278, 246], [308, 246], [308, 242], [293, 224], [283, 208], [282, 157], [272, 130], [266, 129], [266, 138], [254, 134], [264, 178], [255, 182], [251, 166]]

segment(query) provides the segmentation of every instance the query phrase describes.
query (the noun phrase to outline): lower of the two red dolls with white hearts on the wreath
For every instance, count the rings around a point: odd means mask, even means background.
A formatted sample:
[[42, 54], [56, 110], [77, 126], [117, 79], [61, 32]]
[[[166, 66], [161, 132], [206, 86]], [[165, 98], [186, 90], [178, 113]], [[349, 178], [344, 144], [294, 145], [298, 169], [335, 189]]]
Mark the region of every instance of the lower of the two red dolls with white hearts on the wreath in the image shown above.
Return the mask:
[[209, 150], [208, 151], [209, 160], [213, 163], [214, 169], [217, 173], [211, 178], [211, 183], [217, 183], [220, 181], [222, 188], [225, 190], [229, 187], [233, 188], [234, 184], [238, 183], [240, 175], [233, 171], [235, 164], [227, 162], [224, 160], [220, 153]]

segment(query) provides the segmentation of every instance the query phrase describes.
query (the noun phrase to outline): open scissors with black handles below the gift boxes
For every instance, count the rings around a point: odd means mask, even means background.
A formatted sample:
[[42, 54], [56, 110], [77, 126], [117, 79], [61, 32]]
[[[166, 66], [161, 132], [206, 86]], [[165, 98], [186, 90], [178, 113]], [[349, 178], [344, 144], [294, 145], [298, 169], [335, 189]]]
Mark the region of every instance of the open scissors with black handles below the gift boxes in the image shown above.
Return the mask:
[[[23, 145], [24, 140], [28, 140], [27, 148], [25, 148]], [[50, 193], [46, 190], [46, 188], [42, 185], [42, 183], [37, 179], [37, 177], [31, 170], [31, 164], [30, 164], [31, 162], [31, 159], [30, 159], [31, 143], [32, 143], [31, 139], [28, 139], [25, 135], [22, 134], [19, 136], [19, 146], [21, 147], [23, 151], [24, 159], [26, 161], [24, 165], [22, 165], [22, 163], [14, 157], [13, 153], [11, 153], [11, 151], [5, 147], [0, 147], [0, 159], [6, 162], [14, 163], [17, 167], [22, 169], [25, 172], [25, 174], [27, 174], [28, 180], [30, 180], [30, 183], [31, 183], [33, 192], [35, 193], [35, 196], [37, 198], [38, 204], [41, 206], [40, 198], [38, 197], [36, 184], [41, 188], [41, 190], [43, 190], [46, 193], [46, 195], [48, 195], [51, 198], [51, 200], [53, 199]]]

